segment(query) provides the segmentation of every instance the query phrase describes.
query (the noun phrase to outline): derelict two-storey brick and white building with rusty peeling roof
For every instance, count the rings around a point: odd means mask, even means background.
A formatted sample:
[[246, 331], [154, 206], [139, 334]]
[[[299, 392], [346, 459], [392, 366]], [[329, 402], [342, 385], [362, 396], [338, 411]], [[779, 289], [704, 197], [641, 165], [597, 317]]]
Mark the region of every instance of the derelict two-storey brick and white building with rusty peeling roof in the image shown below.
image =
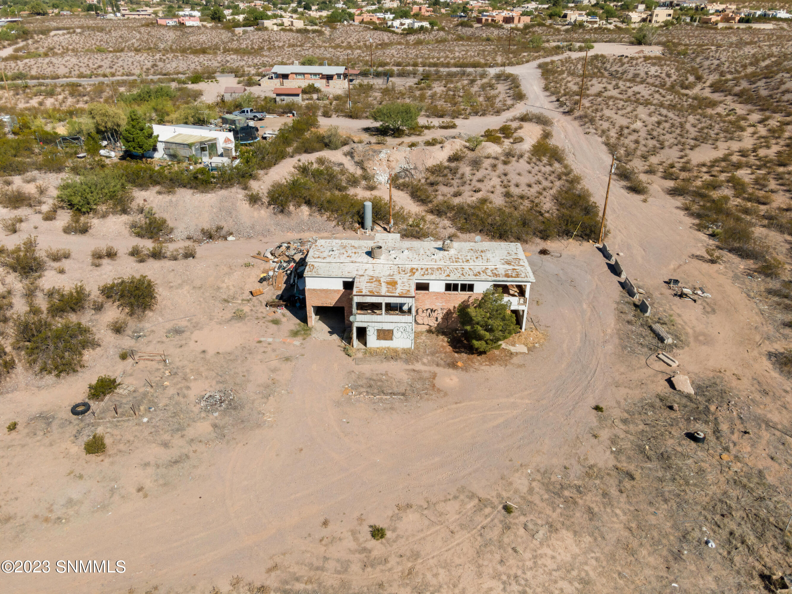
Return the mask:
[[308, 326], [343, 309], [352, 345], [412, 348], [417, 330], [454, 326], [455, 310], [500, 288], [525, 329], [534, 275], [519, 243], [320, 239], [306, 258]]

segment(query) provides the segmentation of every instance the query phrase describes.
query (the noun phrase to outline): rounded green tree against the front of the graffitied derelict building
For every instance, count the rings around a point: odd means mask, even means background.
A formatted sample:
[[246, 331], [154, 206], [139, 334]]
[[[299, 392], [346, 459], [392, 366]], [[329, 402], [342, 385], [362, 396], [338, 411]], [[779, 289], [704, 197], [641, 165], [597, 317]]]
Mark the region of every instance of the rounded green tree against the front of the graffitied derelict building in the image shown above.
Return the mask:
[[489, 287], [474, 303], [462, 303], [457, 313], [465, 337], [475, 352], [497, 350], [501, 348], [501, 341], [520, 332], [501, 289]]

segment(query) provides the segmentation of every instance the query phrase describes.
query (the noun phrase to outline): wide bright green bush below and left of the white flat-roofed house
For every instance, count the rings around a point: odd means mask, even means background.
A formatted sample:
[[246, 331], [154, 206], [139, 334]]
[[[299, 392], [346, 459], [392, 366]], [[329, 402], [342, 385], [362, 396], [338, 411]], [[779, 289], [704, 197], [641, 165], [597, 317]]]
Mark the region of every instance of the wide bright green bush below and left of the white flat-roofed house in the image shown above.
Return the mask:
[[117, 212], [128, 212], [132, 196], [127, 181], [116, 169], [96, 169], [78, 177], [67, 177], [58, 187], [57, 200], [65, 208], [86, 215], [107, 204]]

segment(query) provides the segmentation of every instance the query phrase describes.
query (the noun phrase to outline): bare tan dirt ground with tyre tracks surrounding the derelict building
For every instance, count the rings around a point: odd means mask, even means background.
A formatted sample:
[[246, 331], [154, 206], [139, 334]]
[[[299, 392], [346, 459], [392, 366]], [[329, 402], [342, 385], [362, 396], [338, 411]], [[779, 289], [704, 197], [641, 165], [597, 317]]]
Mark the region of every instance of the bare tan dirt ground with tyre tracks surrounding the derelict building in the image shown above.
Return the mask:
[[[557, 111], [535, 63], [510, 70], [527, 93], [514, 112], [552, 117], [554, 142], [604, 196], [603, 143]], [[479, 131], [507, 116], [464, 125]], [[179, 219], [169, 200], [147, 195], [177, 229], [201, 226], [205, 211]], [[31, 214], [21, 234], [6, 238], [10, 245], [30, 232], [40, 246], [73, 250], [66, 278], [48, 271], [45, 287], [84, 279], [95, 290], [145, 272], [160, 297], [122, 337], [101, 333], [115, 315], [110, 306], [85, 314], [103, 343], [86, 369], [55, 381], [21, 367], [0, 397], [3, 423], [20, 423], [0, 436], [3, 558], [53, 566], [123, 559], [127, 571], [10, 574], [4, 591], [668, 592], [676, 584], [757, 592], [757, 574], [778, 567], [789, 493], [745, 493], [789, 472], [789, 440], [766, 426], [774, 416], [789, 420], [788, 382], [767, 360], [782, 345], [745, 294], [736, 258], [709, 265], [691, 257], [706, 239], [676, 200], [653, 187], [644, 203], [612, 186], [608, 244], [680, 327], [673, 355], [695, 398], [668, 387], [668, 372], [646, 359], [653, 348], [626, 350], [626, 294], [581, 242], [524, 246], [536, 276], [531, 318], [547, 337], [527, 354], [465, 356], [427, 334], [428, 358], [356, 364], [337, 341], [284, 342], [299, 313], [272, 316], [261, 300], [246, 301], [258, 286], [249, 254], [319, 234], [314, 228], [330, 234], [309, 215], [267, 216], [276, 233], [200, 246], [191, 261], [120, 256], [90, 267], [93, 246], [111, 242], [125, 253], [139, 242], [112, 217], [78, 237]], [[673, 299], [662, 282], [669, 277], [702, 284], [712, 297]], [[164, 349], [169, 362], [120, 361], [122, 348]], [[454, 359], [463, 365], [449, 365]], [[146, 394], [143, 415], [104, 423], [70, 415], [87, 383], [122, 372]], [[233, 405], [207, 411], [196, 403], [215, 389], [235, 390]], [[703, 427], [707, 447], [696, 450], [683, 432]], [[105, 432], [105, 455], [82, 451], [94, 431]], [[729, 451], [736, 466], [722, 456]], [[661, 473], [668, 467], [673, 481]], [[707, 503], [713, 493], [721, 508]], [[750, 521], [734, 524], [756, 517], [768, 523], [765, 549]], [[369, 524], [386, 527], [386, 539], [373, 541]]]

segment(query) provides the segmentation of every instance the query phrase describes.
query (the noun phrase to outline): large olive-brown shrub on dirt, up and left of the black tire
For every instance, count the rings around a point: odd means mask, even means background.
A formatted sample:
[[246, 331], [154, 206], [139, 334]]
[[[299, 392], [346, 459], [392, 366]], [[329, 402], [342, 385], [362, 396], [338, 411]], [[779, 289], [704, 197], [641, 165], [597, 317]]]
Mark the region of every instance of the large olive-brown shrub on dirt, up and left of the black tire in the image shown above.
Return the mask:
[[82, 356], [97, 348], [99, 341], [93, 330], [82, 322], [64, 320], [58, 326], [48, 325], [25, 346], [25, 360], [39, 373], [60, 377], [85, 367]]

